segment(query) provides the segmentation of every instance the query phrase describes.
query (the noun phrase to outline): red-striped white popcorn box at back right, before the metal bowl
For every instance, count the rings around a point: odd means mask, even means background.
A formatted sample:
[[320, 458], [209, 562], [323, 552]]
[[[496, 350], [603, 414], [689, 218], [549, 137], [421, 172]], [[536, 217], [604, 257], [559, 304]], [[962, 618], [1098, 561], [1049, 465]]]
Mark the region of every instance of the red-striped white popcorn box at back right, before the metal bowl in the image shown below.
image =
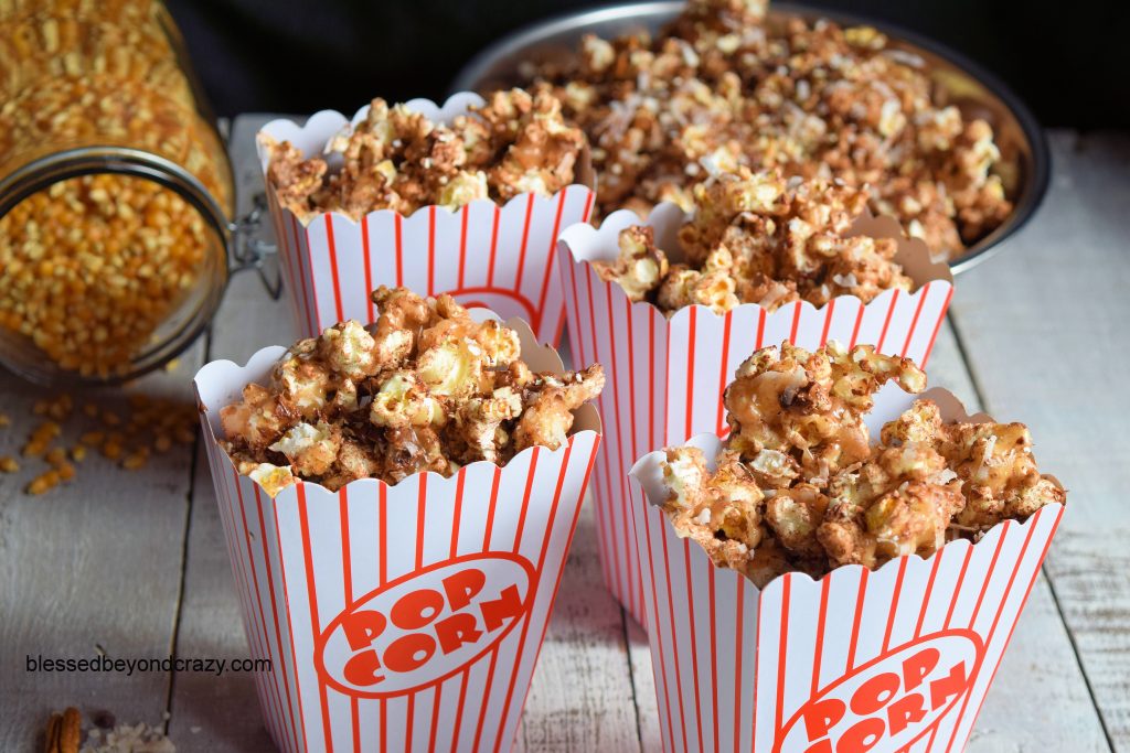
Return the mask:
[[627, 489], [635, 458], [703, 431], [724, 434], [725, 385], [741, 361], [763, 345], [785, 340], [805, 348], [828, 340], [876, 343], [884, 353], [924, 365], [953, 295], [946, 264], [932, 263], [925, 245], [907, 239], [890, 218], [862, 217], [852, 233], [896, 238], [896, 260], [914, 280], [915, 291], [886, 291], [866, 305], [841, 296], [823, 308], [801, 301], [768, 312], [745, 304], [719, 315], [689, 306], [667, 317], [649, 303], [632, 303], [619, 284], [602, 280], [593, 269], [592, 261], [616, 259], [620, 230], [640, 224], [652, 227], [659, 247], [672, 262], [679, 261], [677, 234], [685, 220], [669, 203], [659, 204], [646, 220], [629, 211], [614, 212], [599, 229], [567, 228], [557, 254], [572, 356], [577, 362], [599, 361], [608, 376], [599, 401], [605, 444], [592, 484], [605, 583], [641, 624], [643, 595]]

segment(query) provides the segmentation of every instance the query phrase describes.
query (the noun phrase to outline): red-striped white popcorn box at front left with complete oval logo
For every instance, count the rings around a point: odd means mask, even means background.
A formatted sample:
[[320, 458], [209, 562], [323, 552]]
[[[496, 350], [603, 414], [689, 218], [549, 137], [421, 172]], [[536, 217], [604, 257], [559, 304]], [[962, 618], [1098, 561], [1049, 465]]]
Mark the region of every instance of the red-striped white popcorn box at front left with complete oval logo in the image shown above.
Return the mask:
[[[560, 371], [522, 334], [536, 370]], [[297, 482], [273, 499], [218, 443], [219, 409], [282, 348], [195, 377], [206, 448], [266, 726], [280, 751], [508, 751], [600, 441], [596, 409], [567, 445], [452, 478]]]

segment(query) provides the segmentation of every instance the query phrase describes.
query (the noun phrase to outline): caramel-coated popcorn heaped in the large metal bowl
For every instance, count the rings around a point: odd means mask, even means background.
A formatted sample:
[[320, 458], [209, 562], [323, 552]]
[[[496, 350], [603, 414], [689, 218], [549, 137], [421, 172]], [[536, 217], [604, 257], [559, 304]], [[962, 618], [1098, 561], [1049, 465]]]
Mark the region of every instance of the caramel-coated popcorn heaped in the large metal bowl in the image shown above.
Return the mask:
[[840, 180], [940, 259], [1011, 211], [990, 125], [948, 104], [924, 63], [870, 27], [765, 19], [765, 2], [692, 0], [657, 37], [585, 37], [546, 65], [589, 135], [599, 211], [689, 209], [739, 166]]

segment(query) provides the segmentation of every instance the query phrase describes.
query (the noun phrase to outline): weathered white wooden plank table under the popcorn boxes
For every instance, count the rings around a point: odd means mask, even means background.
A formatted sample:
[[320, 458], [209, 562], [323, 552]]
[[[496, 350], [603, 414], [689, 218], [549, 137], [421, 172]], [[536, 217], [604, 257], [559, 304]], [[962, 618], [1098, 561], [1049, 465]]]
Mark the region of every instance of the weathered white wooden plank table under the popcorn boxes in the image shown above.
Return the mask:
[[[243, 116], [233, 129], [244, 207], [261, 186], [252, 139], [263, 121]], [[1055, 132], [1052, 146], [1043, 209], [958, 280], [929, 368], [931, 384], [967, 406], [1026, 421], [1043, 466], [1070, 489], [970, 741], [979, 752], [1130, 751], [1130, 135]], [[241, 274], [179, 369], [133, 388], [189, 400], [205, 361], [243, 362], [293, 339], [285, 304]], [[0, 455], [18, 455], [44, 396], [0, 374], [0, 411], [12, 418]], [[0, 474], [0, 751], [33, 750], [49, 713], [69, 704], [164, 724], [180, 751], [271, 750], [249, 674], [26, 671], [40, 654], [247, 656], [198, 448], [134, 473], [92, 457], [75, 483], [40, 498], [23, 493], [29, 478]], [[646, 641], [601, 585], [588, 513], [515, 747], [661, 748]]]

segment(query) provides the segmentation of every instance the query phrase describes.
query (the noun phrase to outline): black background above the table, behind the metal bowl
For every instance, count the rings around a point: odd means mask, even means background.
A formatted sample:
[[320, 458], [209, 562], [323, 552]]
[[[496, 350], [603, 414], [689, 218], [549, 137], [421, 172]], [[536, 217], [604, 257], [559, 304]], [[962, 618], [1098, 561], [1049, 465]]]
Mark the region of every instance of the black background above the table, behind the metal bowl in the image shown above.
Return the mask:
[[[495, 40], [577, 0], [168, 0], [218, 114], [351, 113], [443, 98]], [[1130, 128], [1130, 2], [810, 0], [916, 30], [982, 63], [1048, 126]]]

